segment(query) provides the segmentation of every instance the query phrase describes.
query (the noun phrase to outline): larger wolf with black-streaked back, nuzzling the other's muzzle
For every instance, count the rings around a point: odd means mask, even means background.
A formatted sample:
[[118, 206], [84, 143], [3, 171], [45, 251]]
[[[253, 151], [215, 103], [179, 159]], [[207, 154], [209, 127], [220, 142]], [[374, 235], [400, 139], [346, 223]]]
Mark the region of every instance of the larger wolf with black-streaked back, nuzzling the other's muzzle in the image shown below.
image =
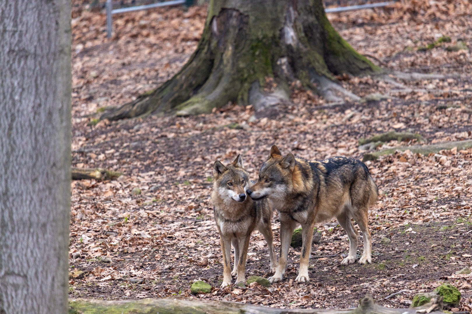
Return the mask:
[[342, 265], [355, 262], [357, 231], [354, 218], [362, 231], [364, 250], [359, 264], [371, 263], [371, 233], [368, 209], [379, 193], [369, 169], [353, 158], [333, 157], [323, 161], [306, 161], [292, 153], [283, 157], [277, 146], [270, 149], [269, 160], [259, 171], [258, 181], [247, 190], [253, 200], [268, 198], [280, 217], [280, 257], [270, 282], [282, 280], [292, 233], [302, 225], [302, 252], [297, 282], [308, 282], [313, 227], [316, 223], [336, 217], [349, 237], [349, 254]]

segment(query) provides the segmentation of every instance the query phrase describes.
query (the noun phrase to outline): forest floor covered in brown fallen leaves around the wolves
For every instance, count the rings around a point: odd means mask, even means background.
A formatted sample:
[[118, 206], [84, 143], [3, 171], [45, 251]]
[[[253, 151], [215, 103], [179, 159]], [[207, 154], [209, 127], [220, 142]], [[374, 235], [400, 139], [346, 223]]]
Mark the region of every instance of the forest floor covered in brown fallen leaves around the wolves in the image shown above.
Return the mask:
[[[374, 77], [340, 77], [360, 97], [381, 93], [387, 99], [332, 106], [293, 84], [292, 105], [263, 112], [228, 104], [194, 117], [98, 122], [106, 107], [155, 89], [185, 64], [200, 38], [206, 7], [114, 16], [111, 40], [103, 14], [75, 7], [73, 165], [124, 175], [72, 182], [70, 271], [82, 270], [85, 276], [70, 280], [69, 297], [190, 296], [192, 282], [203, 280], [214, 289], [196, 298], [345, 308], [370, 293], [381, 305], [405, 307], [415, 293], [450, 282], [463, 295], [454, 310], [470, 310], [472, 277], [455, 272], [472, 266], [472, 149], [443, 151], [441, 160], [405, 152], [367, 161], [380, 192], [369, 214], [372, 264], [341, 266], [346, 233], [336, 220], [323, 222], [317, 225], [321, 242], [312, 247], [310, 282], [294, 282], [300, 253], [291, 249], [283, 282], [260, 296], [219, 288], [221, 251], [210, 192], [215, 160], [227, 164], [242, 153], [255, 179], [273, 144], [283, 154], [307, 159], [362, 159], [366, 152], [359, 149], [359, 139], [391, 130], [418, 132], [428, 143], [471, 138], [472, 56], [468, 49], [446, 49], [458, 47], [458, 40], [472, 47], [471, 15], [472, 3], [466, 0], [402, 1], [395, 8], [330, 15], [355, 49], [376, 57], [384, 68], [446, 75], [395, 79], [409, 89]], [[438, 42], [443, 36], [451, 42]], [[428, 44], [433, 45], [425, 48]], [[273, 84], [268, 78], [267, 88]], [[392, 141], [377, 149], [412, 144]], [[277, 218], [274, 213], [278, 251]], [[260, 233], [253, 235], [248, 253], [246, 278], [253, 274], [270, 276]], [[405, 292], [383, 300], [399, 290]]]

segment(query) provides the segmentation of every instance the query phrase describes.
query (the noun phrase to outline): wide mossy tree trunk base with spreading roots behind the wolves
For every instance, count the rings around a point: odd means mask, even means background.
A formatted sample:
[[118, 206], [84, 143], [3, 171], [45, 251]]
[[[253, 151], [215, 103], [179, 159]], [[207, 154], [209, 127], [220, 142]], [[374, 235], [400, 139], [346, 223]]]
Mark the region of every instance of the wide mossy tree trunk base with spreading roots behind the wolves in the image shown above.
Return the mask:
[[[211, 0], [202, 39], [180, 72], [101, 119], [208, 113], [228, 101], [258, 109], [287, 98], [294, 80], [336, 101], [343, 91], [333, 74], [378, 71], [334, 30], [321, 0]], [[278, 82], [271, 95], [261, 89], [266, 77]]]

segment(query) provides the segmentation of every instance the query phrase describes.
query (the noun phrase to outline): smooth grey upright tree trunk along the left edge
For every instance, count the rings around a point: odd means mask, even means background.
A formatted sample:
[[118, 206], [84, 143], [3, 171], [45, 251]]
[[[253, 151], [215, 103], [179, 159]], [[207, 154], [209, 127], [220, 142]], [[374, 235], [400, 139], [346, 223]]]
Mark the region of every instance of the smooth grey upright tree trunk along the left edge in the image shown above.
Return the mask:
[[0, 313], [67, 313], [70, 0], [0, 1]]

